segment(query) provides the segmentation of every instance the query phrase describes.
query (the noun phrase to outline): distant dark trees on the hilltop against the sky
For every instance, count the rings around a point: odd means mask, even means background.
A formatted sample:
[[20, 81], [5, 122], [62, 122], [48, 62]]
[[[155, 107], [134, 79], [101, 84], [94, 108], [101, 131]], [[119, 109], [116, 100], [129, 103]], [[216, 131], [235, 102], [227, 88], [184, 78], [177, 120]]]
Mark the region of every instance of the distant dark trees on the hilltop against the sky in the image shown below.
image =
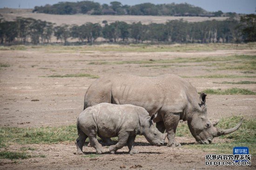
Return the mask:
[[122, 5], [121, 2], [113, 1], [110, 4], [100, 4], [93, 1], [79, 1], [79, 2], [59, 2], [54, 5], [45, 5], [34, 7], [33, 12], [49, 13], [49, 14], [117, 14], [117, 15], [168, 15], [168, 16], [228, 16], [231, 17], [236, 13], [222, 13], [217, 11], [214, 13], [207, 12], [201, 7], [195, 7], [187, 3], [181, 4], [152, 4], [142, 3], [134, 6]]

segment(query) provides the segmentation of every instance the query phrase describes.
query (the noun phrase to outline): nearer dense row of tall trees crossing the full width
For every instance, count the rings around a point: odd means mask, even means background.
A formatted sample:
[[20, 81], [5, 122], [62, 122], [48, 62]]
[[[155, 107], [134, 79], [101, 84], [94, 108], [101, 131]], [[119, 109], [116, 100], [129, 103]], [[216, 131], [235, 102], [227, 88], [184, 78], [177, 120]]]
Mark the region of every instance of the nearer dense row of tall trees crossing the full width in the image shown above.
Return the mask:
[[224, 21], [187, 22], [170, 20], [164, 24], [141, 22], [128, 24], [123, 21], [108, 23], [87, 22], [81, 26], [61, 25], [17, 17], [15, 21], [0, 20], [0, 43], [33, 44], [49, 43], [55, 36], [58, 41], [68, 44], [69, 38], [80, 44], [93, 44], [99, 37], [108, 42], [165, 42], [165, 43], [239, 43], [256, 41], [256, 15]]

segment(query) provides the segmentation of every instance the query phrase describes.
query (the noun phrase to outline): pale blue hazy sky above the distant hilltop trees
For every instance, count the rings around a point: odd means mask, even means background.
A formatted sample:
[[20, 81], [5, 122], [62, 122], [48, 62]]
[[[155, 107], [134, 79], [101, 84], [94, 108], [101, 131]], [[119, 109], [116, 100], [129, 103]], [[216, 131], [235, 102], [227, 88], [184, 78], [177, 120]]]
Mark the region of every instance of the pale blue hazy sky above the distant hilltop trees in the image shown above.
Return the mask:
[[[46, 4], [55, 4], [60, 1], [76, 2], [81, 0], [0, 0], [0, 8], [34, 8], [34, 6], [44, 6]], [[107, 3], [115, 0], [93, 0], [94, 2]], [[154, 4], [163, 3], [184, 3], [202, 7], [207, 11], [236, 12], [236, 13], [255, 13], [256, 0], [116, 0], [122, 4], [135, 5], [145, 2]]]

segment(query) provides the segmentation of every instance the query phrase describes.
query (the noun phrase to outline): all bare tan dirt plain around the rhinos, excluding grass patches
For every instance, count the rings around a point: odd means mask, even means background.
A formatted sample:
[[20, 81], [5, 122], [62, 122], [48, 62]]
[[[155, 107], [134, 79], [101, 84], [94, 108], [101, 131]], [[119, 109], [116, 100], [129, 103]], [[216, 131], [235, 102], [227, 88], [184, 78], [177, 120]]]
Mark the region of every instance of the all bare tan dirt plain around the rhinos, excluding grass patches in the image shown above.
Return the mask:
[[[50, 75], [88, 73], [104, 77], [108, 74], [130, 74], [138, 76], [159, 76], [174, 73], [180, 76], [201, 76], [214, 74], [256, 75], [240, 70], [209, 69], [209, 62], [177, 63], [167, 68], [144, 67], [144, 64], [89, 65], [92, 61], [126, 61], [149, 59], [175, 59], [207, 56], [229, 56], [234, 54], [255, 54], [256, 50], [216, 50], [211, 52], [100, 52], [100, 51], [48, 51], [44, 48], [0, 51], [0, 63], [9, 67], [0, 68], [0, 125], [10, 127], [41, 127], [75, 124], [83, 109], [83, 98], [94, 78], [70, 77], [49, 78]], [[184, 66], [186, 65], [186, 66]], [[216, 84], [223, 81], [256, 81], [256, 78], [186, 78], [200, 92], [204, 89], [228, 89], [233, 87], [256, 92], [256, 85]], [[32, 101], [32, 100], [39, 101]], [[255, 95], [208, 95], [209, 118], [217, 119], [232, 115], [256, 118]], [[183, 145], [194, 144], [194, 138], [177, 137]], [[229, 142], [215, 138], [214, 142]], [[20, 150], [24, 145], [11, 145], [8, 150]], [[25, 145], [26, 146], [26, 145]], [[209, 152], [166, 146], [151, 146], [145, 138], [136, 138], [136, 149], [141, 153], [130, 156], [124, 147], [116, 155], [108, 152], [97, 157], [75, 155], [74, 143], [29, 144], [37, 150], [34, 157], [13, 163], [0, 160], [0, 169], [255, 169], [252, 166], [205, 166], [204, 157]], [[105, 147], [107, 151], [108, 148]], [[85, 154], [94, 153], [93, 148], [84, 147]], [[232, 150], [230, 150], [232, 153]], [[230, 154], [227, 153], [227, 154]]]

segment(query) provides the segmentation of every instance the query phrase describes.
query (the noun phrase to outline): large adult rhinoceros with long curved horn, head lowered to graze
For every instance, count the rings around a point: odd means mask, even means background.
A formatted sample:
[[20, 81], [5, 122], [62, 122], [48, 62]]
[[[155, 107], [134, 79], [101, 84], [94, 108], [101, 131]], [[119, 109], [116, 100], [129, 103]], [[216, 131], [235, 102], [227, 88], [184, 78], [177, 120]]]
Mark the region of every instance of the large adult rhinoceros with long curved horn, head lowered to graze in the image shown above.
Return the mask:
[[[236, 131], [243, 122], [231, 129], [217, 129], [218, 121], [211, 123], [207, 117], [206, 94], [199, 96], [194, 86], [173, 74], [99, 78], [88, 88], [84, 108], [103, 102], [137, 105], [145, 108], [149, 115], [158, 113], [154, 122], [159, 131], [168, 133], [167, 146], [180, 146], [175, 141], [179, 120], [188, 122], [190, 132], [201, 144], [209, 144], [214, 137]], [[111, 143], [108, 138], [103, 139]]]

